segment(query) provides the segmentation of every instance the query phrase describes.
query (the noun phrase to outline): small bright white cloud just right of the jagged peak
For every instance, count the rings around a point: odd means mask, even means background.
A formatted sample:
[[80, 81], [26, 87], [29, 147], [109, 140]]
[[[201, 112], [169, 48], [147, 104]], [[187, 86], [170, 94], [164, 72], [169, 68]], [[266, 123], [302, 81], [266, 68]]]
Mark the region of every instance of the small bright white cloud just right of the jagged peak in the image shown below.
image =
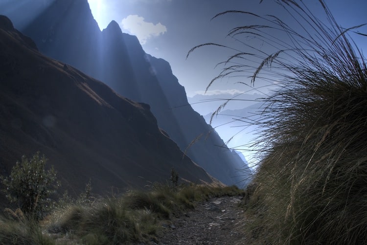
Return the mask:
[[121, 27], [138, 37], [140, 44], [145, 44], [149, 38], [164, 34], [167, 28], [161, 22], [154, 24], [145, 22], [144, 18], [138, 15], [129, 15], [121, 21]]

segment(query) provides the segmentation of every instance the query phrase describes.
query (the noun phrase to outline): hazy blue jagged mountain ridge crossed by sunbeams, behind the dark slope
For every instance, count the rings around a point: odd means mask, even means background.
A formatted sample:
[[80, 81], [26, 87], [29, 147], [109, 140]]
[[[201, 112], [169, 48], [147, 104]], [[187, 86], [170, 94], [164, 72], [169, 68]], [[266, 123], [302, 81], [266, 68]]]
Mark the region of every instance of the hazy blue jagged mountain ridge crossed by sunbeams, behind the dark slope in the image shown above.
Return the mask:
[[190, 106], [176, 108], [188, 102], [166, 61], [146, 54], [137, 37], [122, 33], [114, 21], [100, 31], [87, 0], [33, 0], [32, 8], [37, 4], [42, 11], [28, 16], [27, 24], [16, 18], [29, 12], [24, 6], [9, 14], [15, 26], [22, 22], [21, 31], [42, 53], [103, 81], [124, 97], [149, 104], [158, 126], [194, 162], [223, 183], [242, 180], [236, 178], [237, 168], [247, 168], [241, 158]]

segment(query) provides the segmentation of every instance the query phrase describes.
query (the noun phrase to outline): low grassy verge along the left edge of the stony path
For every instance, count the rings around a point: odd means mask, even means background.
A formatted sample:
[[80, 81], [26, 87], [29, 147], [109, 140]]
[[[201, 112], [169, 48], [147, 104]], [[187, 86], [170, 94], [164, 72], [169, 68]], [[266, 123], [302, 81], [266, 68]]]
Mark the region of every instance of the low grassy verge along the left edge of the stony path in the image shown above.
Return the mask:
[[8, 212], [0, 220], [1, 244], [125, 244], [157, 240], [161, 222], [180, 216], [195, 201], [240, 195], [237, 187], [156, 185], [93, 202], [62, 201], [40, 222]]

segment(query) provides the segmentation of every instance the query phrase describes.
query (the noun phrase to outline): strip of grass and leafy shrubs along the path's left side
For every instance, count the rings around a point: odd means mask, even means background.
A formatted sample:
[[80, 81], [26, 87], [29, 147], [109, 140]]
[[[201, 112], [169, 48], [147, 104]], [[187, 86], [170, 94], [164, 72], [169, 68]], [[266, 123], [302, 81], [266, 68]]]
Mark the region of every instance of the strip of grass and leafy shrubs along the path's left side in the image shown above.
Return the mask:
[[[52, 183], [57, 180], [53, 169], [45, 171], [45, 164], [45, 156], [39, 153], [29, 161], [23, 157], [9, 177], [1, 178], [5, 186], [2, 191], [19, 208], [6, 208], [0, 216], [0, 244], [158, 242], [157, 232], [163, 223], [193, 209], [196, 201], [242, 193], [235, 186], [179, 184], [179, 175], [172, 170], [166, 184], [156, 183], [149, 189], [95, 198], [88, 183], [78, 198], [65, 192], [58, 201], [52, 201], [46, 198], [46, 192], [54, 190]], [[27, 171], [29, 167], [34, 170]], [[26, 179], [26, 183], [20, 179]], [[26, 188], [22, 188], [24, 185]]]

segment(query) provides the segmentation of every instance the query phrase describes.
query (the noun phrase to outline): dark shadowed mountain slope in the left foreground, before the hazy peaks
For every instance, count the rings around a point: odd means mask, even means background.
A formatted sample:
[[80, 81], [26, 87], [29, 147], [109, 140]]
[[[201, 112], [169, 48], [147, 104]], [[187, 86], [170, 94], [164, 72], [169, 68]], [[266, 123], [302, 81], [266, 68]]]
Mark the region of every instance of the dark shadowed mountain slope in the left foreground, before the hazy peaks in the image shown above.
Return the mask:
[[[0, 16], [0, 174], [36, 151], [64, 188], [142, 187], [180, 177], [213, 183], [157, 124], [150, 106], [126, 99], [65, 63], [47, 58]], [[217, 181], [216, 181], [217, 182]]]

